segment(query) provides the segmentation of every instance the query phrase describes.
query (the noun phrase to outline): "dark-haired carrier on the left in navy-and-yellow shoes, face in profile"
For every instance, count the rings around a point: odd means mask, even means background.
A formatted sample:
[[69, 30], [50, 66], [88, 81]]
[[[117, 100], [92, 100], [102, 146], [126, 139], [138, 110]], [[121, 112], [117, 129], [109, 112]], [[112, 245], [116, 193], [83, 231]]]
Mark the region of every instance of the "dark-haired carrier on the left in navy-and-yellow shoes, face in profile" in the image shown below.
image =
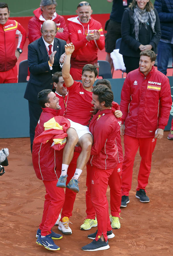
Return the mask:
[[[51, 89], [45, 89], [39, 92], [38, 102], [43, 112], [35, 130], [35, 137], [40, 135], [44, 130], [44, 123], [59, 115], [59, 98]], [[59, 240], [61, 235], [52, 231], [52, 227], [59, 216], [61, 208], [64, 204], [64, 189], [57, 188], [57, 180], [60, 175], [57, 170], [57, 160], [59, 159], [59, 151], [51, 147], [52, 140], [47, 143], [33, 143], [32, 162], [38, 179], [42, 180], [45, 189], [45, 202], [43, 216], [39, 229], [37, 230], [36, 243], [44, 246], [48, 250], [57, 251], [60, 249], [52, 239]]]

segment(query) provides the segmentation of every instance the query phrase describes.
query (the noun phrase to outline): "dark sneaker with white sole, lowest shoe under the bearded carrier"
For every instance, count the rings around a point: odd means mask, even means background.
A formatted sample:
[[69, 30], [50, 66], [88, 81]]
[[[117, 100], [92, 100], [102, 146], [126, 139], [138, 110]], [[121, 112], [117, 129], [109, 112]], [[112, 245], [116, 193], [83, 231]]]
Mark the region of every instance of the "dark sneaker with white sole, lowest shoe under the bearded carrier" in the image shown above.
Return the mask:
[[99, 240], [95, 241], [95, 239], [82, 247], [83, 251], [101, 251], [101, 250], [107, 250], [109, 249], [109, 244], [108, 241], [101, 241], [101, 238], [99, 238]]

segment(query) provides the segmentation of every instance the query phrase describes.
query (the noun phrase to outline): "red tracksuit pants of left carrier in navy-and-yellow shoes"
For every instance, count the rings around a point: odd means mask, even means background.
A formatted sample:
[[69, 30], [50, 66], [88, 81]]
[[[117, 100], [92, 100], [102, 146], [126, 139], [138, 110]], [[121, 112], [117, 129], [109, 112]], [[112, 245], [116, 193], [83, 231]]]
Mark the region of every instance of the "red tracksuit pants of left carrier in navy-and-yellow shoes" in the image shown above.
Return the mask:
[[39, 228], [41, 236], [46, 236], [51, 233], [52, 227], [55, 225], [61, 208], [64, 204], [65, 194], [64, 189], [57, 187], [57, 180], [44, 181], [46, 188], [43, 217]]

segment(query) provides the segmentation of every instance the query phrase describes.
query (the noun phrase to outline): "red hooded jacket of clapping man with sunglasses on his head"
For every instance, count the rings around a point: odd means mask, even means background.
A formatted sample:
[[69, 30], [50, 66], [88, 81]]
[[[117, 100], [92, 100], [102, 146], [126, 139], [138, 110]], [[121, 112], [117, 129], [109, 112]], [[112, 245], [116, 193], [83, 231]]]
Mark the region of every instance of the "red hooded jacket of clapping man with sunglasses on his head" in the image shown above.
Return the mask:
[[[68, 22], [69, 40], [74, 44], [75, 48], [71, 56], [71, 66], [76, 69], [82, 69], [85, 64], [97, 63], [97, 51], [98, 49], [102, 50], [105, 46], [101, 23], [92, 17], [89, 23], [86, 23], [86, 27], [84, 27], [84, 23], [80, 23], [78, 17], [68, 18]], [[99, 30], [101, 34], [99, 40], [87, 41], [86, 36], [89, 30], [92, 34], [94, 29]]]

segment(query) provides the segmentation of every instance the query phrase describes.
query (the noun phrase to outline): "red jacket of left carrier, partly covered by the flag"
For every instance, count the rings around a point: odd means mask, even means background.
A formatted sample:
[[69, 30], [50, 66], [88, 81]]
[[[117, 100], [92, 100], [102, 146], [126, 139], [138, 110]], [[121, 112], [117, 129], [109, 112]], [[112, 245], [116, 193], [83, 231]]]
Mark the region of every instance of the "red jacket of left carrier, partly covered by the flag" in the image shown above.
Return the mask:
[[[44, 123], [47, 122], [52, 117], [59, 114], [59, 110], [52, 108], [42, 108], [43, 112], [40, 115], [39, 121], [35, 130], [35, 137], [44, 131]], [[54, 150], [51, 147], [53, 143], [52, 140], [48, 141], [46, 144], [33, 143], [32, 146], [32, 163], [36, 176], [38, 179], [52, 181], [58, 179], [56, 170], [59, 151]]]

